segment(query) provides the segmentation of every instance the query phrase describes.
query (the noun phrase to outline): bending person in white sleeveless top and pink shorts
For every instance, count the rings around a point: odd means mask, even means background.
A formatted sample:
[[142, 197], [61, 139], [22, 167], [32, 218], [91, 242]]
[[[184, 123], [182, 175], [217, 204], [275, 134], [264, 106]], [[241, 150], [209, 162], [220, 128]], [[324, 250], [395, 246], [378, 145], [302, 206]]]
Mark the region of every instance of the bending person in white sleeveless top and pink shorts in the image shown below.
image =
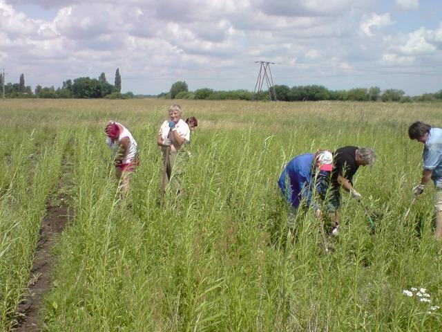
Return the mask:
[[128, 191], [129, 174], [140, 164], [137, 142], [122, 124], [109, 120], [104, 127], [106, 144], [112, 151], [115, 176], [121, 183], [122, 196]]

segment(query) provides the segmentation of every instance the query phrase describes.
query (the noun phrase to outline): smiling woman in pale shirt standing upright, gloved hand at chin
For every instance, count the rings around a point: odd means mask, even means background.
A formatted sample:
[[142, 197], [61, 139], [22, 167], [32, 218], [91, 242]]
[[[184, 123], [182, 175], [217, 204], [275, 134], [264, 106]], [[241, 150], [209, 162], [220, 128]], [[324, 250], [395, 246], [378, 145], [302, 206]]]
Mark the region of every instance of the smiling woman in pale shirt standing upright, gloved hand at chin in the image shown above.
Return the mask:
[[[163, 156], [163, 163], [161, 169], [160, 187], [164, 190], [171, 178], [173, 177], [173, 190], [175, 194], [179, 194], [182, 188], [182, 172], [185, 161], [182, 160], [180, 150], [182, 146], [189, 142], [191, 131], [189, 125], [181, 118], [182, 109], [180, 105], [172, 105], [169, 108], [169, 120], [165, 120], [158, 133], [157, 145], [160, 147]], [[169, 149], [169, 158], [167, 150]], [[166, 172], [164, 172], [166, 167]]]

